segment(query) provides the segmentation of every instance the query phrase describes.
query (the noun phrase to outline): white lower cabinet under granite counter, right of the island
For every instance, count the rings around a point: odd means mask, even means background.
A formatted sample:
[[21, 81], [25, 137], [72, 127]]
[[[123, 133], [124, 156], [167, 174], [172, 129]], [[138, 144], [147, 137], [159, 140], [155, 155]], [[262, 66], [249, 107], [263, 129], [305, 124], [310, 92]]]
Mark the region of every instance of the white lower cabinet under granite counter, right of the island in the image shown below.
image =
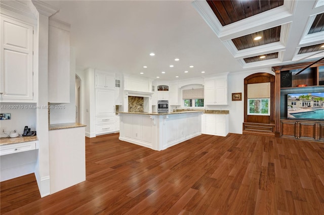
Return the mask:
[[228, 114], [204, 114], [201, 133], [225, 137], [228, 134]]

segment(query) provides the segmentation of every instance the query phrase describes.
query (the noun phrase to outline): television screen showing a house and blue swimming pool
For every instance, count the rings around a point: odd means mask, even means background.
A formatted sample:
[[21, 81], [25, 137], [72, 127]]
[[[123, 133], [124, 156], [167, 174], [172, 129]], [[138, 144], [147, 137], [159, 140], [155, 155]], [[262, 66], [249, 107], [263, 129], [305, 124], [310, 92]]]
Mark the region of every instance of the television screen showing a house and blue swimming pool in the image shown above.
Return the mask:
[[324, 92], [287, 94], [287, 118], [324, 121]]

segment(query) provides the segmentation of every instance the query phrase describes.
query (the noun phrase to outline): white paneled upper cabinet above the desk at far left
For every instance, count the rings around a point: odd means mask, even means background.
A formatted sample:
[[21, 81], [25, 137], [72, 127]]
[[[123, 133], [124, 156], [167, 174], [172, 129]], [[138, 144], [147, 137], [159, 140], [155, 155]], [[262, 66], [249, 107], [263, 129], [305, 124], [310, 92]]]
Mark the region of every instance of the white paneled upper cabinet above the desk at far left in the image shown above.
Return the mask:
[[33, 26], [1, 16], [0, 100], [32, 102]]

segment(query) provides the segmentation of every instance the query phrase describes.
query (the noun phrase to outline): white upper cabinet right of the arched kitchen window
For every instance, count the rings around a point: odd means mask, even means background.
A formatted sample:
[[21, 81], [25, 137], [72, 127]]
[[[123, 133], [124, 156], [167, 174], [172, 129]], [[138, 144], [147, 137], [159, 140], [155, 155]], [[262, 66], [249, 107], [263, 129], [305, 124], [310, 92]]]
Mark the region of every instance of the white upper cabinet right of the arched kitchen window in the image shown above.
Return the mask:
[[207, 105], [227, 104], [227, 76], [205, 79], [204, 102]]

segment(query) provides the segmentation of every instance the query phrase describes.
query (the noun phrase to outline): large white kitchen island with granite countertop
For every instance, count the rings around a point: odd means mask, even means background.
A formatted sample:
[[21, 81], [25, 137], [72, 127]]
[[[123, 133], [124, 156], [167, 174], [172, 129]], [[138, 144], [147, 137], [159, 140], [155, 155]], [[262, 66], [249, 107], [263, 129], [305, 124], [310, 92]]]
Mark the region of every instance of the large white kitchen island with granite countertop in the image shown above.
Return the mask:
[[204, 111], [172, 113], [118, 112], [119, 140], [164, 150], [201, 135]]

